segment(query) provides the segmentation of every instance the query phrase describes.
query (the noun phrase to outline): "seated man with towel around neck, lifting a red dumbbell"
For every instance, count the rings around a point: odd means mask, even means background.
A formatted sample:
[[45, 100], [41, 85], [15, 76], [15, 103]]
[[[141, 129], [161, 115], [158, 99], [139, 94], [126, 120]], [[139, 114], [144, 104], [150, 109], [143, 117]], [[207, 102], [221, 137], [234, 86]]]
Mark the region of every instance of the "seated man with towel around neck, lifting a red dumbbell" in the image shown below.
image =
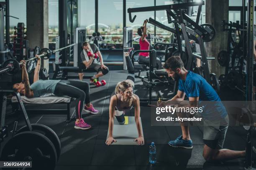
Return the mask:
[[[79, 63], [78, 76], [80, 80], [83, 80], [84, 69], [92, 68], [97, 71], [97, 74], [90, 78], [90, 82], [96, 85], [97, 78], [108, 73], [108, 67], [103, 64], [102, 55], [99, 47], [95, 44], [83, 43], [83, 50], [80, 54], [82, 62]], [[97, 61], [97, 57], [100, 59], [100, 63]]]

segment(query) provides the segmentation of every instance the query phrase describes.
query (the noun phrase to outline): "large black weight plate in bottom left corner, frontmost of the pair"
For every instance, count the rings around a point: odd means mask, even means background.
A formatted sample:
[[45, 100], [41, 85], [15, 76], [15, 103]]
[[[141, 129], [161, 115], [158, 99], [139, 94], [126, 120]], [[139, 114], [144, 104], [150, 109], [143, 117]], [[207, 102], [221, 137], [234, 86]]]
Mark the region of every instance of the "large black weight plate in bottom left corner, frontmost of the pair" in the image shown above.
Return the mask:
[[[57, 162], [56, 149], [46, 136], [26, 131], [13, 136], [5, 144], [1, 161], [32, 161], [31, 170], [54, 170]], [[4, 168], [18, 170], [19, 168]]]

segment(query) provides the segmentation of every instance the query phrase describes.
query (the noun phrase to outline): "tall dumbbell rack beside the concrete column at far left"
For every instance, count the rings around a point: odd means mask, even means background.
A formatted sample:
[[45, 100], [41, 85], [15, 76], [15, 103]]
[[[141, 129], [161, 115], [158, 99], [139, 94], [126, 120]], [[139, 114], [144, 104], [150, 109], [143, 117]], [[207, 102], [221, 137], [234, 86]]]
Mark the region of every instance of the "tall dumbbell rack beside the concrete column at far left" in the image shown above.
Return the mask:
[[23, 40], [26, 39], [24, 30], [24, 23], [18, 23], [17, 27], [14, 27], [14, 38], [13, 38], [13, 56], [18, 61], [23, 60]]

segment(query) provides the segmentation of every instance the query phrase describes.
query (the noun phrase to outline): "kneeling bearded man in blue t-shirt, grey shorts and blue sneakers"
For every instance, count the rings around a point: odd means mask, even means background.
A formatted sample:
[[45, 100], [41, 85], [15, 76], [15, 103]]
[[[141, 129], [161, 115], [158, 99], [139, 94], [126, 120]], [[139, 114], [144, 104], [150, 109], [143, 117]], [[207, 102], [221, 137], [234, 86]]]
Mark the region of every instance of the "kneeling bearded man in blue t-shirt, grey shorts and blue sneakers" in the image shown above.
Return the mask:
[[[203, 105], [200, 115], [204, 120], [203, 141], [205, 143], [203, 156], [205, 160], [230, 160], [245, 157], [245, 151], [222, 149], [228, 129], [228, 114], [220, 97], [212, 86], [200, 75], [184, 68], [180, 56], [172, 56], [166, 60], [164, 68], [169, 77], [179, 81], [177, 95], [171, 100], [159, 103], [159, 106], [171, 105], [184, 100], [187, 95], [189, 101], [182, 107], [198, 107]], [[181, 104], [178, 104], [181, 107]], [[183, 114], [183, 115], [182, 115]], [[177, 113], [184, 116], [184, 113]], [[169, 141], [172, 147], [192, 148], [189, 127], [181, 122], [182, 135], [176, 140]]]

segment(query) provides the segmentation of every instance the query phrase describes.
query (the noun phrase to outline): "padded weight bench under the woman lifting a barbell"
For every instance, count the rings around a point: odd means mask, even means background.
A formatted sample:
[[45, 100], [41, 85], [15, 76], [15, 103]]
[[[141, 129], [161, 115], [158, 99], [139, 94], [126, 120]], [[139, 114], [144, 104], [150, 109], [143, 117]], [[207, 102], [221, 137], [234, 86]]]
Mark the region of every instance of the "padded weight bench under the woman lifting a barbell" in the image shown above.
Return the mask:
[[[55, 95], [52, 95], [50, 93], [46, 94], [46, 95], [43, 95], [41, 97], [33, 97], [33, 98], [28, 98], [26, 96], [21, 96], [21, 99], [22, 99], [22, 102], [24, 104], [26, 104], [26, 106], [34, 106], [35, 109], [28, 109], [26, 108], [27, 111], [33, 111], [33, 112], [36, 112], [38, 114], [48, 114], [46, 111], [59, 111], [61, 112], [60, 114], [61, 115], [64, 115], [64, 114], [67, 114], [67, 122], [70, 122], [70, 103], [73, 101], [72, 98], [70, 97], [59, 97], [59, 96], [55, 96]], [[12, 97], [11, 99], [11, 102], [12, 103], [18, 103], [18, 100], [15, 96]], [[67, 104], [67, 107], [66, 109], [56, 109], [56, 108], [49, 108], [47, 107], [47, 105], [49, 104]], [[37, 109], [38, 107], [35, 107], [35, 106], [38, 106], [38, 105], [44, 105], [46, 107], [46, 109]]]

